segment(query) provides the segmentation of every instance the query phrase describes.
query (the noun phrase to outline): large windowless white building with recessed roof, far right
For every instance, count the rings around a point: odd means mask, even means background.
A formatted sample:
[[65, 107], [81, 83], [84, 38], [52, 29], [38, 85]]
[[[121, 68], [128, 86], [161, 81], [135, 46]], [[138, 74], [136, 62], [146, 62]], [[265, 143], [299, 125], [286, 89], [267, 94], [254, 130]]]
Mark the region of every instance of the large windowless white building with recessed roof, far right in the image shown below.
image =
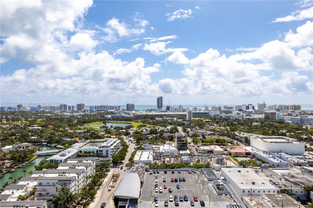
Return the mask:
[[250, 136], [250, 146], [265, 152], [304, 154], [304, 143], [284, 136]]

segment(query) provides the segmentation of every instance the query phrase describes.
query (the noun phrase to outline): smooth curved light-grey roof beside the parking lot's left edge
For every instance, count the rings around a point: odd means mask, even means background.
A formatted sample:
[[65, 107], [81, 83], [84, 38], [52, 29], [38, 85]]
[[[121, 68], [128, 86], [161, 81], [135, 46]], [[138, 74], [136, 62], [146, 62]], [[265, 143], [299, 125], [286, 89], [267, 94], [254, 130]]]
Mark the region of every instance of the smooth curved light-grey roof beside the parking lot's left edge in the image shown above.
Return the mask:
[[114, 197], [122, 199], [138, 199], [140, 195], [140, 179], [137, 173], [127, 173], [115, 191]]

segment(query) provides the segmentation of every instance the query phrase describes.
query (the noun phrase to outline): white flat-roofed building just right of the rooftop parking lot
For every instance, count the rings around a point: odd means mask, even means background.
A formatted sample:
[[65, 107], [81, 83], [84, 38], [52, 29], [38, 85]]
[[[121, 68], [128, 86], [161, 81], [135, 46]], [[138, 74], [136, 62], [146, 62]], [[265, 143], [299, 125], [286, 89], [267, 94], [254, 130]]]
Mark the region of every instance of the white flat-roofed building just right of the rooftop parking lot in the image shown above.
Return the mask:
[[243, 196], [275, 194], [279, 190], [249, 168], [222, 168], [221, 174], [241, 199]]

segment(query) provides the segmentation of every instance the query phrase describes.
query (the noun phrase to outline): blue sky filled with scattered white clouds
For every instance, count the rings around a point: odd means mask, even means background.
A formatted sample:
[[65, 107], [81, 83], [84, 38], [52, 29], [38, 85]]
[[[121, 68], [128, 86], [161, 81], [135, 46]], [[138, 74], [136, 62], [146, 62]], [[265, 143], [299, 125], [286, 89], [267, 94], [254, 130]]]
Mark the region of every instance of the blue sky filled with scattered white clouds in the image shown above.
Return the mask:
[[311, 1], [1, 2], [0, 98], [312, 104], [312, 13]]

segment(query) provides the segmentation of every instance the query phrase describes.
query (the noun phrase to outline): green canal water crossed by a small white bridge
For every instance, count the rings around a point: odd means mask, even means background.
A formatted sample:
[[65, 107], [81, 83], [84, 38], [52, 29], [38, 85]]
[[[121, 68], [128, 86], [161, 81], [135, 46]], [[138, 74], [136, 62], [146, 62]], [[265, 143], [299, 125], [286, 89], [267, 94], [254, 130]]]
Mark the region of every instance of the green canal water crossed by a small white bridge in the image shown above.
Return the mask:
[[[34, 145], [35, 147], [41, 147], [43, 148], [44, 150], [56, 150], [57, 148], [55, 147], [51, 147], [51, 146], [45, 146], [45, 145]], [[23, 173], [23, 170], [26, 169], [26, 174], [25, 176], [29, 176], [29, 174], [27, 173], [28, 171], [35, 171], [35, 168], [34, 166], [38, 165], [38, 163], [44, 159], [45, 157], [50, 157], [51, 155], [49, 156], [38, 156], [36, 157], [35, 160], [31, 161], [30, 163], [27, 163], [25, 166], [23, 167], [19, 167], [18, 169], [16, 169], [16, 171], [14, 172], [8, 172], [6, 174], [4, 174], [4, 176], [2, 176], [2, 178], [0, 178], [0, 187], [2, 186], [2, 184], [5, 182], [5, 181], [8, 181], [10, 184], [11, 184], [11, 179], [9, 179], [10, 176], [13, 177], [13, 180], [15, 178], [18, 178], [20, 176], [24, 176], [24, 173]]]

